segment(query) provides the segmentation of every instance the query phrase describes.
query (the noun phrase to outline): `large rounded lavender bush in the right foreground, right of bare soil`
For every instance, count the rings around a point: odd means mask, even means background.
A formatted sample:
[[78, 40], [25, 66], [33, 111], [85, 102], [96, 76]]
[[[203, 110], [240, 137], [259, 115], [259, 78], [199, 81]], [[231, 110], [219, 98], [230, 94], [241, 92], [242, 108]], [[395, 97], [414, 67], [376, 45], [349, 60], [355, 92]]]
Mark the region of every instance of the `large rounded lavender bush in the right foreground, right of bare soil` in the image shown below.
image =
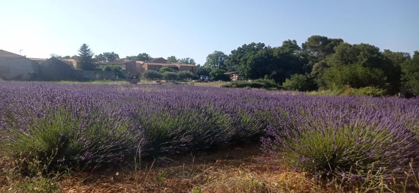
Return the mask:
[[[395, 174], [418, 155], [415, 134], [393, 119], [349, 106], [329, 107], [279, 115], [266, 129], [274, 139], [263, 140], [265, 150], [295, 170], [346, 180], [365, 180], [369, 170], [374, 174], [380, 167], [391, 169], [384, 175]], [[345, 112], [350, 115], [342, 116]]]

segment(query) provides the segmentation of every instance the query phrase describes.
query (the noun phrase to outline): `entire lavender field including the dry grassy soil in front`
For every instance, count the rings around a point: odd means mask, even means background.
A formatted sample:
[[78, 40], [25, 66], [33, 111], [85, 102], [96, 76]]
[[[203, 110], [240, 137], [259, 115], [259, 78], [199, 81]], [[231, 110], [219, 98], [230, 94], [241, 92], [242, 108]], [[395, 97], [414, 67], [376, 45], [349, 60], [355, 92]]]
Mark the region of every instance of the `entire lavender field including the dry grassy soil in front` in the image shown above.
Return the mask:
[[417, 192], [419, 100], [0, 85], [1, 191]]

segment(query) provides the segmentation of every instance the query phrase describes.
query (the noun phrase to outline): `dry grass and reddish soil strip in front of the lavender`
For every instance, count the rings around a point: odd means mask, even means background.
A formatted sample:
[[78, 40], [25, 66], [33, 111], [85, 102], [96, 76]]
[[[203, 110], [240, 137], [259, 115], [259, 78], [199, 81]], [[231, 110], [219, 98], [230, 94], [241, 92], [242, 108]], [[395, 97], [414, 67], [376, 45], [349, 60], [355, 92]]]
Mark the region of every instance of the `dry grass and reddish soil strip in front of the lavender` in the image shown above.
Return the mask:
[[[258, 144], [224, 147], [215, 152], [173, 155], [142, 160], [141, 167], [107, 168], [93, 173], [67, 173], [44, 178], [25, 178], [10, 172], [16, 162], [1, 158], [0, 192], [29, 193], [335, 193], [351, 192], [320, 185], [311, 175], [294, 172], [273, 162], [261, 161]], [[419, 174], [418, 174], [419, 175]], [[359, 189], [352, 192], [406, 193]], [[416, 189], [417, 190], [417, 189]], [[414, 191], [413, 191], [414, 192]]]

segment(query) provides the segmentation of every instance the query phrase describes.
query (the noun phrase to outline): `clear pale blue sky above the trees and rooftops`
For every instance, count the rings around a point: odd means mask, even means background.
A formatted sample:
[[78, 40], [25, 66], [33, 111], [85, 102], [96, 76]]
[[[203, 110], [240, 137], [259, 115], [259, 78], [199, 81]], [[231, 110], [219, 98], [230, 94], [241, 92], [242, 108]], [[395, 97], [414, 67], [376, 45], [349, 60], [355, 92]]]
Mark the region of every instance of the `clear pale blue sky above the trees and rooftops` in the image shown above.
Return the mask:
[[311, 35], [419, 49], [419, 0], [1, 0], [0, 49], [27, 57], [73, 55], [81, 44], [120, 57], [229, 54], [251, 42], [280, 46]]

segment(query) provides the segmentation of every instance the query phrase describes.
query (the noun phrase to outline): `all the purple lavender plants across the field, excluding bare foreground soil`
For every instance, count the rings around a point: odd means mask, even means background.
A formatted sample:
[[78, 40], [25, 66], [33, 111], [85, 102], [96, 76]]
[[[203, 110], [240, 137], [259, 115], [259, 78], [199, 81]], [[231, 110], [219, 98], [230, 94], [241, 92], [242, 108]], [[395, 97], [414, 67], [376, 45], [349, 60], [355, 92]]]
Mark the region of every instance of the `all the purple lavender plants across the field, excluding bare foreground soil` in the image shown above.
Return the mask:
[[[190, 85], [0, 85], [0, 150], [98, 167], [262, 139], [295, 170], [346, 175], [419, 155], [419, 100]], [[261, 138], [262, 137], [262, 138]]]

